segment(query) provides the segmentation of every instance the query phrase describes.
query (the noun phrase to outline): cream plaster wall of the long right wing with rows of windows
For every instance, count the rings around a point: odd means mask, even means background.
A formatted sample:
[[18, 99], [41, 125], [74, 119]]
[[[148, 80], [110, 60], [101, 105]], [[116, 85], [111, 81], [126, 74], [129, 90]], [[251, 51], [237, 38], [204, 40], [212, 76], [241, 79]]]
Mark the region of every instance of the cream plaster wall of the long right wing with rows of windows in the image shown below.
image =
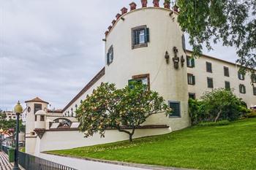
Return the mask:
[[[206, 61], [212, 63], [212, 73], [206, 72]], [[229, 68], [230, 77], [225, 77], [224, 66]], [[243, 98], [248, 107], [256, 104], [256, 96], [253, 95], [249, 74], [246, 74], [245, 80], [239, 80], [239, 68], [235, 64], [219, 61], [203, 55], [195, 59], [195, 68], [188, 68], [187, 70], [188, 73], [195, 75], [195, 85], [189, 85], [189, 93], [195, 93], [196, 98], [200, 98], [200, 96], [203, 96], [203, 93], [212, 90], [207, 87], [207, 77], [211, 77], [214, 80], [214, 88], [225, 88], [225, 81], [230, 82], [230, 88], [234, 89], [236, 96]], [[239, 92], [240, 84], [246, 86], [245, 94]]]

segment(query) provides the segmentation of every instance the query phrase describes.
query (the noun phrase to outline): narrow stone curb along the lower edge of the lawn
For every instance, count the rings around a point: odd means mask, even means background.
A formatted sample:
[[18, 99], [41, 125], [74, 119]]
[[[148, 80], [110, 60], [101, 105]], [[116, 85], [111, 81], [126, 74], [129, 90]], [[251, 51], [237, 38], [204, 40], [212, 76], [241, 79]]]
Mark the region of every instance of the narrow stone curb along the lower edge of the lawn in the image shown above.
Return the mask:
[[53, 154], [48, 152], [42, 152], [44, 154], [48, 155], [56, 155], [56, 156], [62, 156], [66, 158], [76, 158], [84, 161], [94, 161], [99, 163], [110, 163], [118, 166], [129, 166], [129, 167], [135, 167], [140, 169], [152, 169], [152, 170], [196, 170], [196, 169], [181, 169], [181, 168], [175, 168], [175, 167], [166, 167], [166, 166], [154, 166], [154, 165], [147, 165], [147, 164], [140, 164], [140, 163], [126, 163], [126, 162], [120, 162], [120, 161], [107, 161], [107, 160], [101, 160], [101, 159], [95, 159], [95, 158], [80, 158], [70, 155], [59, 155], [59, 154]]

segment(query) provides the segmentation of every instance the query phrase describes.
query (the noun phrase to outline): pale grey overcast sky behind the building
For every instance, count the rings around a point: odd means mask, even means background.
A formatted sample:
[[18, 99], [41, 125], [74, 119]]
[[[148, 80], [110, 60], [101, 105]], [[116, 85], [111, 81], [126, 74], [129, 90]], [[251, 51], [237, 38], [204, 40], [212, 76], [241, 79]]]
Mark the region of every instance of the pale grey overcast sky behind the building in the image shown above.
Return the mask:
[[[104, 33], [130, 2], [0, 0], [0, 108], [38, 96], [62, 109], [104, 66]], [[221, 43], [204, 53], [236, 61]]]

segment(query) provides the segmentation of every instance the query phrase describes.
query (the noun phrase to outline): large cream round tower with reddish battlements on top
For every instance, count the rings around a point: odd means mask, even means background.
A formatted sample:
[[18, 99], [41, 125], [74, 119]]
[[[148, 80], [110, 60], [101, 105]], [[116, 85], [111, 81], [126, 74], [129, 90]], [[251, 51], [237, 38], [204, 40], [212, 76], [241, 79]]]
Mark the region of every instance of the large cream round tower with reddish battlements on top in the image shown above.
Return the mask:
[[[144, 3], [145, 4], [145, 3]], [[189, 125], [188, 85], [184, 32], [178, 13], [165, 8], [121, 9], [105, 32], [105, 80], [117, 88], [140, 80], [157, 91], [173, 108], [173, 116], [158, 114], [146, 124], [166, 124], [172, 130]]]

